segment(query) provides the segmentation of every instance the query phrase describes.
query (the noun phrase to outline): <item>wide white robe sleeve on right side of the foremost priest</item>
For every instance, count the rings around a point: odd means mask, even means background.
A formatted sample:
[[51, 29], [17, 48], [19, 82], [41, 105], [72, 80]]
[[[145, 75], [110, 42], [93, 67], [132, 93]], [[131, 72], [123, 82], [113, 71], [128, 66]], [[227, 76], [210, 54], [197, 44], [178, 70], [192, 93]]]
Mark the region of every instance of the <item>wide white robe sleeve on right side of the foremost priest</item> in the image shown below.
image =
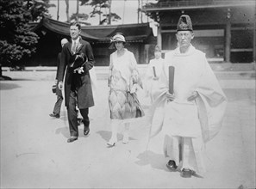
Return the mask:
[[204, 142], [208, 142], [221, 130], [222, 120], [227, 107], [227, 97], [211, 70], [206, 58], [203, 58], [203, 76], [198, 84], [196, 99]]

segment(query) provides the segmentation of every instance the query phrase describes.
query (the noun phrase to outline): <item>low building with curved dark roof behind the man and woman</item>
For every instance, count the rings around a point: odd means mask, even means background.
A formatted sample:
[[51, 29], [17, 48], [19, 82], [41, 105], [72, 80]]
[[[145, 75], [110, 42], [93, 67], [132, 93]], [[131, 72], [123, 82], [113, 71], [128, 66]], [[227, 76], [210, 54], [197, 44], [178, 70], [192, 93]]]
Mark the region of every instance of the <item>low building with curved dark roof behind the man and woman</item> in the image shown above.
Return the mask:
[[[44, 18], [40, 23], [32, 23], [31, 30], [38, 34], [40, 39], [36, 53], [28, 59], [27, 66], [54, 66], [57, 55], [61, 51], [60, 40], [70, 39], [70, 24], [53, 19]], [[86, 26], [82, 27], [81, 36], [91, 43], [96, 59], [96, 66], [108, 66], [109, 41], [116, 32], [122, 32], [127, 40], [127, 48], [134, 52], [138, 64], [147, 64], [151, 58], [151, 49], [156, 44], [149, 23], [125, 24], [115, 26]]]

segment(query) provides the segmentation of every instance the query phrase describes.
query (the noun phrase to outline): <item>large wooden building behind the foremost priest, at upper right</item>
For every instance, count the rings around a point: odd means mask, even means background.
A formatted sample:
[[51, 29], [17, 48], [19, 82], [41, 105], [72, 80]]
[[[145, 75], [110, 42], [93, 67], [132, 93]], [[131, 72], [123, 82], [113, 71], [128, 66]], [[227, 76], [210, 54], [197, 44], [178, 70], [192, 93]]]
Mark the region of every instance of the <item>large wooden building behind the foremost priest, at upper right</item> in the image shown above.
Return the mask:
[[190, 15], [192, 44], [207, 58], [231, 63], [251, 63], [256, 57], [255, 0], [159, 0], [143, 11], [158, 22], [158, 44], [164, 52], [177, 45], [180, 15]]

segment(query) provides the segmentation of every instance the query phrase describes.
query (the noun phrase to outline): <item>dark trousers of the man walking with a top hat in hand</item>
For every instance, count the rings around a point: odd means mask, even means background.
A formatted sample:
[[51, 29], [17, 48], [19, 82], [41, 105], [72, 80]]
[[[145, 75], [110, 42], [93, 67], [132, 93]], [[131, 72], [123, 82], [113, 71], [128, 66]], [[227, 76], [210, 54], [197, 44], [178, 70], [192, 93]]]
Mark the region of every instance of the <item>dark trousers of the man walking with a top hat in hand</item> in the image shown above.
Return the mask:
[[[69, 104], [67, 107], [67, 118], [70, 135], [74, 137], [78, 137], [78, 113], [76, 110], [77, 106], [77, 93], [76, 91], [71, 91], [69, 95]], [[79, 109], [84, 122], [84, 127], [89, 127], [89, 108]]]

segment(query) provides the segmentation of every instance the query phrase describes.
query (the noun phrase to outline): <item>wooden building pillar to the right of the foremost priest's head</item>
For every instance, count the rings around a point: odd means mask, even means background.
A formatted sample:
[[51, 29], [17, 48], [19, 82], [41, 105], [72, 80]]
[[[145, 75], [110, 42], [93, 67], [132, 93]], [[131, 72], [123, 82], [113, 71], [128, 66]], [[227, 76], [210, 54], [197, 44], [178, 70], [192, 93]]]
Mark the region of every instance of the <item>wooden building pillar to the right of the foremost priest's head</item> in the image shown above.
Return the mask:
[[230, 63], [230, 52], [231, 52], [231, 21], [230, 21], [230, 9], [227, 13], [227, 23], [226, 23], [226, 34], [225, 34], [225, 57], [224, 60]]

